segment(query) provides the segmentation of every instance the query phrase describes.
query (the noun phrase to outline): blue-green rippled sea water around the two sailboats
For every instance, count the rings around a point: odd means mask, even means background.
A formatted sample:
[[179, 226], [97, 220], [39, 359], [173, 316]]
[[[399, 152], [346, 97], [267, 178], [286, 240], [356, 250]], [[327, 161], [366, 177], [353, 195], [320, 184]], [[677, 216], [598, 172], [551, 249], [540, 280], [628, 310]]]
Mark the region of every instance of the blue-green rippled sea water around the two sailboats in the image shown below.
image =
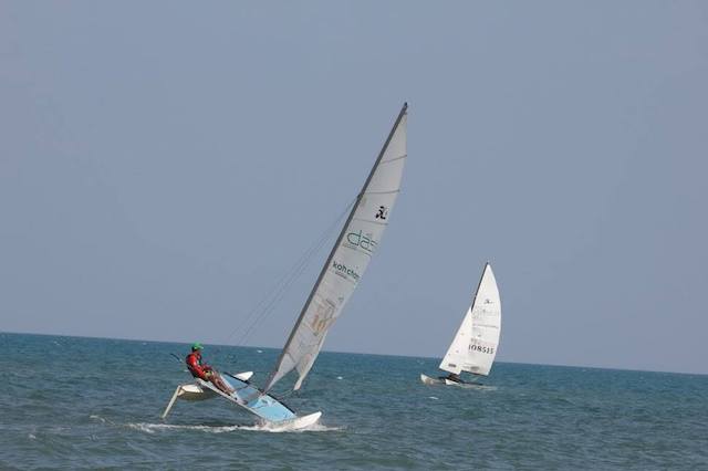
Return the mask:
[[[419, 381], [435, 358], [325, 352], [285, 399], [321, 423], [272, 432], [218, 398], [160, 420], [189, 380], [170, 356], [186, 344], [0, 334], [0, 469], [708, 470], [708, 376], [498, 363], [462, 389]], [[278, 354], [205, 350], [257, 384]]]

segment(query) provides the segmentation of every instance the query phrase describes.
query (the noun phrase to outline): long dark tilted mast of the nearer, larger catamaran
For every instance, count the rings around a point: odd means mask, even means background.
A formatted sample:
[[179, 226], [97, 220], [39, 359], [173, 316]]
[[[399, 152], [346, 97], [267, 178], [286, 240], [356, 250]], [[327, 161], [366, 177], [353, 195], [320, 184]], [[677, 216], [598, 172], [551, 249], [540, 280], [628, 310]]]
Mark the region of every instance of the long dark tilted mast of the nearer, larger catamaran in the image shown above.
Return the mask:
[[[339, 237], [336, 239], [336, 242], [334, 242], [334, 245], [332, 247], [332, 250], [330, 251], [330, 254], [327, 255], [327, 259], [324, 262], [324, 265], [322, 266], [322, 270], [320, 271], [320, 275], [317, 276], [317, 281], [314, 283], [314, 286], [312, 287], [312, 291], [310, 291], [310, 295], [308, 296], [308, 300], [305, 301], [305, 303], [304, 303], [304, 305], [303, 305], [303, 307], [302, 307], [302, 310], [300, 312], [300, 315], [298, 316], [298, 321], [295, 321], [295, 325], [293, 326], [292, 331], [290, 332], [288, 341], [285, 342], [285, 345], [283, 346], [283, 349], [281, 350], [280, 356], [278, 358], [278, 362], [275, 364], [275, 368], [271, 373], [270, 377], [268, 378], [268, 383], [267, 383], [266, 387], [263, 388], [264, 393], [268, 393], [270, 390], [270, 388], [275, 384], [275, 381], [277, 381], [275, 376], [278, 375], [280, 366], [283, 363], [283, 359], [284, 359], [284, 357], [287, 355], [287, 352], [289, 350], [289, 347], [290, 347], [291, 343], [293, 342], [295, 333], [300, 328], [300, 325], [302, 324], [302, 322], [303, 322], [303, 320], [305, 317], [305, 314], [308, 313], [308, 310], [309, 310], [309, 307], [310, 307], [310, 305], [312, 303], [312, 300], [313, 300], [317, 289], [320, 287], [320, 284], [322, 283], [322, 280], [324, 279], [325, 274], [327, 273], [327, 269], [332, 264], [334, 255], [337, 252], [337, 249], [340, 248], [340, 244], [342, 243], [342, 240], [344, 239], [346, 230], [348, 229], [352, 220], [354, 219], [354, 214], [356, 213], [356, 210], [358, 209], [358, 207], [360, 207], [360, 205], [362, 202], [364, 193], [366, 192], [366, 189], [367, 189], [369, 182], [372, 181], [372, 178], [373, 178], [374, 174], [376, 172], [376, 169], [378, 168], [378, 165], [379, 165], [382, 158], [384, 157], [384, 155], [386, 153], [386, 149], [388, 148], [388, 145], [391, 144], [391, 140], [392, 140], [394, 134], [396, 133], [396, 129], [398, 128], [398, 125], [400, 124], [400, 121], [406, 115], [407, 109], [408, 109], [408, 103], [404, 103], [403, 107], [400, 108], [400, 112], [398, 113], [398, 117], [396, 118], [396, 122], [394, 123], [391, 132], [388, 133], [388, 137], [386, 138], [386, 142], [385, 142], [384, 146], [382, 147], [381, 151], [378, 153], [378, 157], [376, 158], [376, 161], [374, 163], [374, 166], [372, 167], [371, 171], [368, 172], [368, 177], [366, 177], [366, 181], [364, 182], [364, 185], [362, 186], [361, 191], [356, 196], [356, 201], [354, 202], [354, 205], [352, 207], [352, 210], [350, 211], [350, 214], [346, 218], [346, 221], [344, 222], [344, 226], [342, 226], [342, 230], [340, 231], [340, 234], [339, 234]], [[322, 337], [322, 341], [324, 341], [324, 337]], [[319, 350], [317, 350], [317, 353], [319, 353]], [[315, 356], [316, 356], [316, 353], [315, 353]], [[313, 362], [314, 362], [314, 358], [312, 358], [310, 360], [310, 366], [311, 366], [311, 364]], [[303, 377], [301, 377], [301, 380], [302, 380]], [[299, 381], [299, 384], [300, 384], [300, 381]]]

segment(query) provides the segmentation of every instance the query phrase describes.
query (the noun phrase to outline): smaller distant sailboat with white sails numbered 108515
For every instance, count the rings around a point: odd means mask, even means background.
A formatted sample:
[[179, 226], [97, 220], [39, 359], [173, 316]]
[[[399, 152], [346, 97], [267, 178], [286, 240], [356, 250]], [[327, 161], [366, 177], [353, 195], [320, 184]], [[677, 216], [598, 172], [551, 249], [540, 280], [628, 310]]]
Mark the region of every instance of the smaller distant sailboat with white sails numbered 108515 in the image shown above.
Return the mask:
[[455, 334], [439, 368], [449, 373], [446, 377], [431, 378], [420, 375], [426, 385], [445, 384], [464, 386], [462, 371], [487, 376], [497, 356], [501, 333], [501, 300], [497, 280], [489, 262], [485, 265], [472, 304]]

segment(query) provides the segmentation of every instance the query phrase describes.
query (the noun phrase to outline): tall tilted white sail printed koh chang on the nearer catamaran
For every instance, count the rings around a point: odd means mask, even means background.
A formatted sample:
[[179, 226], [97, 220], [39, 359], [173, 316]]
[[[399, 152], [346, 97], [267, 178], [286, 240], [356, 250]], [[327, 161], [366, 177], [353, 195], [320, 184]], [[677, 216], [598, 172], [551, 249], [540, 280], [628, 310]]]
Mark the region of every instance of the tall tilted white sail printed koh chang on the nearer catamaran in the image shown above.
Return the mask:
[[264, 391], [293, 369], [299, 374], [294, 389], [300, 388], [322, 348], [327, 329], [342, 313], [381, 243], [406, 161], [407, 107], [407, 104], [403, 105]]

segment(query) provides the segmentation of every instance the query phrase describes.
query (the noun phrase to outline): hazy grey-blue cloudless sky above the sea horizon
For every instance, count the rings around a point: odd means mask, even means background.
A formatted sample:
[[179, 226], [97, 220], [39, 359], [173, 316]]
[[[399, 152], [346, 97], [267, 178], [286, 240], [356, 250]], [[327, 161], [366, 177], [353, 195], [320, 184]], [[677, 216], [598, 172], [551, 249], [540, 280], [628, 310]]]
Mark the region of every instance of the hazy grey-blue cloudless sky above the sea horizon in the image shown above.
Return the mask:
[[[708, 373], [708, 3], [0, 0], [0, 329], [233, 343], [404, 101], [325, 349]], [[333, 241], [249, 338], [281, 347]]]

